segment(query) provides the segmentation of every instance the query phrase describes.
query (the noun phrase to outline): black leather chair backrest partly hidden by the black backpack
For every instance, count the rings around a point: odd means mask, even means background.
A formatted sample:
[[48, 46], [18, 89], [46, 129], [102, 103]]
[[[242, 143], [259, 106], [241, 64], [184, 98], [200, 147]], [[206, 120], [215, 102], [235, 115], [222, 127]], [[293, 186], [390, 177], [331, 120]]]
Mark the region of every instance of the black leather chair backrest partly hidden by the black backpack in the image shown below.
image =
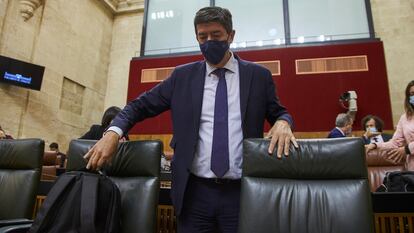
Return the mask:
[[[96, 141], [73, 140], [67, 154], [67, 170], [85, 167], [83, 156]], [[153, 233], [160, 188], [161, 141], [120, 143], [112, 165], [103, 168], [117, 184], [122, 199], [122, 232]]]

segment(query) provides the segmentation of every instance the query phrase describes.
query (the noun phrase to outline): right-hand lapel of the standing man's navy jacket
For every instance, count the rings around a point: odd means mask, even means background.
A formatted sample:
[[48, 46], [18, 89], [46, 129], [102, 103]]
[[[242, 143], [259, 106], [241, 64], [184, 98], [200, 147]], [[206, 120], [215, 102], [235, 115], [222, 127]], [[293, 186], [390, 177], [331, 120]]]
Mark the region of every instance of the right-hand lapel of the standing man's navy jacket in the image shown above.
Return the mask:
[[240, 114], [242, 125], [246, 116], [247, 101], [249, 99], [250, 83], [252, 81], [252, 70], [247, 67], [247, 63], [236, 56], [239, 62], [239, 76], [240, 76]]

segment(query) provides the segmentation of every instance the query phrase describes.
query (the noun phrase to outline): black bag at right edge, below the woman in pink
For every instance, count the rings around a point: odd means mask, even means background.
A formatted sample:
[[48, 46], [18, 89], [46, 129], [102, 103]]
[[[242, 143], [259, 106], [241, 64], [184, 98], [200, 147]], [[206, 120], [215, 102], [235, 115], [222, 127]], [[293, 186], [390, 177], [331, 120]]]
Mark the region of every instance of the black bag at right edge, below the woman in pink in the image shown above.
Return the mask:
[[414, 171], [387, 172], [376, 192], [414, 192]]

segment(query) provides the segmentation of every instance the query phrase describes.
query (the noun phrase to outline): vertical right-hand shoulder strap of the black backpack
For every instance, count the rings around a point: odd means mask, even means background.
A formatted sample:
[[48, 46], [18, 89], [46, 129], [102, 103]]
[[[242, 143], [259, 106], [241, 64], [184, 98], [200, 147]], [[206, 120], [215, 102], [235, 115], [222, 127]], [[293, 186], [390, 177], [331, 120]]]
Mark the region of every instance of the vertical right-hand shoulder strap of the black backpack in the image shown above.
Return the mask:
[[99, 177], [84, 175], [81, 195], [80, 233], [95, 233], [95, 212], [98, 202]]

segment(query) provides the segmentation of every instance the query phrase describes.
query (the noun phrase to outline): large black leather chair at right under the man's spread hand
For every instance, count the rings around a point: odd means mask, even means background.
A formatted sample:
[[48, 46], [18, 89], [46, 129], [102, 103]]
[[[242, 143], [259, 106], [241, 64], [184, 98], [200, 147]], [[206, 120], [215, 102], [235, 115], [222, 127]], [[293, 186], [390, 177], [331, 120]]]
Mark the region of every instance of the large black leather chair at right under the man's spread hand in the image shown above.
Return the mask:
[[239, 233], [369, 233], [373, 212], [361, 139], [299, 140], [289, 157], [244, 141]]

